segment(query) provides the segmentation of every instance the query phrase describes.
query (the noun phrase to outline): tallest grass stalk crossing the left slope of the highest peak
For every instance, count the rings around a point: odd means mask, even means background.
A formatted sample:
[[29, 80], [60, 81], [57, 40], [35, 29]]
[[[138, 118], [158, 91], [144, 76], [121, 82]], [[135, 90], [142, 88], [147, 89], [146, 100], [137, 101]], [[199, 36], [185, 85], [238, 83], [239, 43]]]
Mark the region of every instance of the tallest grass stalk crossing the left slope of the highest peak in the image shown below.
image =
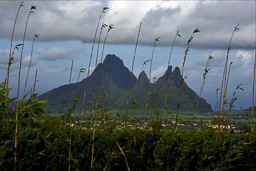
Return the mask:
[[81, 112], [81, 125], [80, 125], [80, 133], [79, 133], [79, 136], [78, 136], [78, 141], [79, 141], [79, 138], [80, 138], [80, 135], [81, 135], [81, 130], [82, 130], [83, 110], [84, 110], [84, 105], [85, 105], [85, 102], [86, 102], [86, 90], [87, 90], [87, 85], [88, 85], [88, 77], [89, 77], [89, 74], [90, 74], [91, 58], [93, 57], [94, 43], [95, 43], [95, 40], [96, 40], [96, 35], [97, 35], [97, 31], [98, 31], [98, 25], [100, 24], [102, 14], [103, 14], [103, 13], [106, 13], [106, 10], [107, 10], [107, 9], [108, 9], [108, 8], [105, 7], [105, 8], [103, 8], [102, 11], [101, 11], [101, 16], [100, 16], [100, 18], [98, 19], [98, 24], [97, 24], [96, 31], [95, 31], [95, 35], [94, 35], [94, 38], [93, 38], [93, 46], [92, 46], [92, 48], [91, 48], [91, 56], [90, 56], [90, 61], [89, 61], [89, 66], [88, 66], [88, 73], [87, 73], [87, 78], [86, 78], [86, 88], [85, 88], [85, 90], [84, 90], [84, 95], [83, 95], [83, 107], [82, 107], [82, 112]]

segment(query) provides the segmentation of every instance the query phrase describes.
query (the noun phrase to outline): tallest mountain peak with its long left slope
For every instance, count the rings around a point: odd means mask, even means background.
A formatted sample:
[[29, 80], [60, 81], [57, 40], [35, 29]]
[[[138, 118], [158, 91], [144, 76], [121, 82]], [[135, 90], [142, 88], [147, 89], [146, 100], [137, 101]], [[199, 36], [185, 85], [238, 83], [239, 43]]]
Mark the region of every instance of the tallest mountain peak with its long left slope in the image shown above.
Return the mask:
[[[68, 108], [71, 108], [71, 105], [73, 104], [71, 100], [73, 99], [74, 95], [79, 93], [80, 98], [76, 102], [76, 110], [81, 110], [83, 106], [83, 95], [85, 92], [87, 79], [88, 85], [86, 89], [86, 101], [88, 103], [86, 108], [90, 108], [90, 101], [93, 99], [93, 89], [96, 92], [97, 88], [98, 96], [107, 96], [108, 105], [113, 106], [116, 105], [116, 97], [128, 90], [130, 83], [130, 71], [128, 68], [126, 68], [126, 66], [123, 65], [123, 61], [120, 58], [115, 55], [107, 55], [103, 63], [98, 63], [98, 66], [93, 73], [91, 73], [91, 76], [88, 76], [88, 78], [85, 78], [83, 81], [78, 83], [71, 83], [68, 93]], [[132, 75], [130, 83], [131, 87], [135, 85], [136, 80], [137, 78]], [[54, 108], [58, 109], [63, 106], [63, 100], [66, 100], [67, 98], [67, 92], [68, 85], [64, 85], [39, 95], [39, 98], [48, 97], [47, 100], [49, 100], [51, 103], [48, 103], [45, 105], [45, 107], [51, 109], [51, 112], [53, 112]], [[57, 93], [58, 95], [56, 95]], [[95, 93], [95, 95], [96, 94], [97, 93]]]

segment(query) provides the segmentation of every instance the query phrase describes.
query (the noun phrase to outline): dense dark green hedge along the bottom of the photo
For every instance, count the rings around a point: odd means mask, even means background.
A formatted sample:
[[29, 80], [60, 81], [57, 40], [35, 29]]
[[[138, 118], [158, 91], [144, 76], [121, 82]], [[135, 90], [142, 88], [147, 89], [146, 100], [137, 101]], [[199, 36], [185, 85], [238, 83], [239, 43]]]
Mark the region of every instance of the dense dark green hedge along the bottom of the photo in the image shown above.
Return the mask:
[[[20, 120], [16, 170], [255, 170], [256, 133], [212, 128], [140, 130], [105, 122], [93, 131], [49, 115]], [[0, 170], [14, 168], [14, 118], [1, 121]], [[71, 130], [72, 135], [71, 135]], [[81, 135], [80, 135], [81, 133]], [[71, 141], [72, 140], [72, 143]], [[71, 143], [71, 148], [69, 147]], [[118, 147], [120, 146], [120, 148]], [[93, 167], [91, 167], [91, 151]], [[69, 160], [69, 153], [71, 159]], [[127, 163], [126, 163], [127, 162]]]

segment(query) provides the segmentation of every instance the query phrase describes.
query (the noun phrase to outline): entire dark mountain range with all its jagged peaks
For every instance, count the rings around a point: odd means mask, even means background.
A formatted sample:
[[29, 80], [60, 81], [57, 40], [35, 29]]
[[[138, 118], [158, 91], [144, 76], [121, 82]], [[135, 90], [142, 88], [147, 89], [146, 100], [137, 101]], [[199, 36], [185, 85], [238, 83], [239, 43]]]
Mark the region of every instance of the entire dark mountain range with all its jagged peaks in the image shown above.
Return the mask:
[[[129, 83], [131, 88], [129, 98], [130, 108], [145, 108], [147, 96], [148, 106], [150, 106], [150, 108], [151, 106], [154, 108], [163, 108], [165, 106], [165, 87], [167, 78], [168, 109], [176, 109], [181, 79], [180, 69], [178, 67], [172, 71], [172, 66], [168, 66], [168, 71], [165, 71], [162, 77], [158, 78], [155, 83], [150, 83], [150, 93], [148, 94], [148, 77], [145, 72], [142, 71], [140, 73], [138, 80], [132, 74], [130, 82], [130, 71], [123, 65], [123, 61], [115, 55], [108, 54], [103, 63], [99, 63], [93, 73], [91, 73], [91, 76], [78, 83], [72, 83], [69, 86], [68, 108], [71, 108], [71, 105], [73, 104], [72, 99], [74, 99], [74, 95], [80, 93], [80, 98], [76, 102], [76, 111], [81, 111], [87, 79], [86, 110], [91, 108], [93, 90], [95, 92], [94, 97], [97, 96], [98, 92], [98, 105], [103, 107], [107, 106], [108, 109], [112, 109], [114, 106], [116, 108], [126, 108]], [[65, 103], [67, 92], [68, 85], [64, 85], [40, 95], [39, 98], [48, 97], [48, 100], [51, 101], [51, 103], [48, 103], [45, 107], [50, 109], [51, 112], [54, 112], [58, 108], [61, 108], [63, 103]], [[191, 105], [195, 106], [197, 100], [198, 95], [184, 82], [180, 96], [180, 110], [190, 110]], [[200, 98], [198, 112], [204, 113], [210, 111], [212, 111], [210, 105], [203, 98]]]

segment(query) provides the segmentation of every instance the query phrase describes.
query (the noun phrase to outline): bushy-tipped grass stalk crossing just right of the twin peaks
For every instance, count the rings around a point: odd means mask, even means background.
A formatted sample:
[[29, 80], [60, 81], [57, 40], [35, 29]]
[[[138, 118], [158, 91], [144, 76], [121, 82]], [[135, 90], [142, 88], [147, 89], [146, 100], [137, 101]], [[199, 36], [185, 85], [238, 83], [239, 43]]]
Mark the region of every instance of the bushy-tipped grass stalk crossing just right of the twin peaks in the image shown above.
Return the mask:
[[[175, 113], [175, 133], [176, 133], [176, 131], [177, 131], [178, 110], [179, 110], [179, 108], [180, 108], [181, 90], [182, 90], [183, 83], [184, 83], [183, 72], [184, 72], [185, 61], [186, 61], [186, 58], [187, 58], [187, 56], [188, 56], [188, 51], [190, 51], [190, 50], [189, 50], [189, 48], [190, 48], [190, 46], [189, 46], [189, 45], [190, 45], [190, 42], [193, 40], [194, 34], [195, 34], [195, 33], [199, 33], [199, 32], [200, 32], [200, 30], [199, 30], [198, 28], [195, 28], [195, 30], [194, 30], [193, 33], [191, 34], [190, 38], [188, 39], [187, 48], [186, 48], [186, 50], [185, 50], [185, 56], [184, 56], [184, 58], [183, 58], [183, 63], [182, 63], [183, 69], [182, 69], [182, 71], [181, 71], [181, 78], [180, 78], [180, 91], [179, 91], [179, 95], [178, 95], [177, 111], [176, 111], [176, 113]], [[186, 78], [186, 77], [185, 77], [185, 78]]]

